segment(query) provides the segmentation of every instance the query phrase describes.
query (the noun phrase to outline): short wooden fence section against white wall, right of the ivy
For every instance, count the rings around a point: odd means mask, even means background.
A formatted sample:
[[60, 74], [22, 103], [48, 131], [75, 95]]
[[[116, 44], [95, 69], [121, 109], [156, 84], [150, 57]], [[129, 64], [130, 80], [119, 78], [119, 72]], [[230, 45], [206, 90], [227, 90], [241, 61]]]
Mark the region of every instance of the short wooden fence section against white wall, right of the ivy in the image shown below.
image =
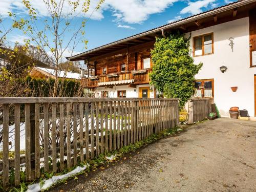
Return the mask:
[[188, 124], [208, 118], [213, 98], [194, 98], [188, 101]]

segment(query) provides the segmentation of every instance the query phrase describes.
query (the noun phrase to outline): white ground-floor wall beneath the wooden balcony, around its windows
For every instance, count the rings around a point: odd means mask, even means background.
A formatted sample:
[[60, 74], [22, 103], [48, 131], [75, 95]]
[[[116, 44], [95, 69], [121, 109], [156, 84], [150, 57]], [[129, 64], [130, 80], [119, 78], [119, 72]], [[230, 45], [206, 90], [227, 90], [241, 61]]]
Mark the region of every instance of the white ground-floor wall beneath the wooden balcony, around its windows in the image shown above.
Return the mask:
[[129, 86], [115, 86], [113, 88], [99, 87], [95, 90], [95, 97], [101, 97], [101, 91], [108, 91], [109, 97], [117, 98], [117, 91], [126, 90], [126, 98], [137, 98], [139, 97], [140, 87], [151, 87], [153, 89], [153, 92], [150, 92], [150, 97], [154, 98], [154, 87], [150, 84], [138, 85], [136, 86], [136, 88], [129, 88]]

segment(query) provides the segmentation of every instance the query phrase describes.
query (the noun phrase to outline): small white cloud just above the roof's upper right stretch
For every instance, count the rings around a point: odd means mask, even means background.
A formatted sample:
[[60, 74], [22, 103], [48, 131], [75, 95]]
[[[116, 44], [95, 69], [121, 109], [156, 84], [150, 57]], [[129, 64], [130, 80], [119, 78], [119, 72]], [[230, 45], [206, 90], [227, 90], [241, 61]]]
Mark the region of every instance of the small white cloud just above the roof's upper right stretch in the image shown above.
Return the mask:
[[188, 2], [188, 6], [180, 11], [181, 14], [198, 14], [203, 10], [202, 8], [206, 8], [209, 5], [212, 5], [216, 2], [216, 0], [200, 0], [196, 2]]

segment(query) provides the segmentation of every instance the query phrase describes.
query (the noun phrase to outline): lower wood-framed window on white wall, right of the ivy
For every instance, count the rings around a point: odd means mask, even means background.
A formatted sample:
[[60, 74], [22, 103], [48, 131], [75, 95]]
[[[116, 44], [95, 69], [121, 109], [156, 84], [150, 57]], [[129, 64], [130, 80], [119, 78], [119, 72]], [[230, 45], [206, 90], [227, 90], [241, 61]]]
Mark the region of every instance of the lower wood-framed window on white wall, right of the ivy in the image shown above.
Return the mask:
[[196, 93], [194, 97], [214, 97], [214, 79], [197, 80], [195, 82]]

